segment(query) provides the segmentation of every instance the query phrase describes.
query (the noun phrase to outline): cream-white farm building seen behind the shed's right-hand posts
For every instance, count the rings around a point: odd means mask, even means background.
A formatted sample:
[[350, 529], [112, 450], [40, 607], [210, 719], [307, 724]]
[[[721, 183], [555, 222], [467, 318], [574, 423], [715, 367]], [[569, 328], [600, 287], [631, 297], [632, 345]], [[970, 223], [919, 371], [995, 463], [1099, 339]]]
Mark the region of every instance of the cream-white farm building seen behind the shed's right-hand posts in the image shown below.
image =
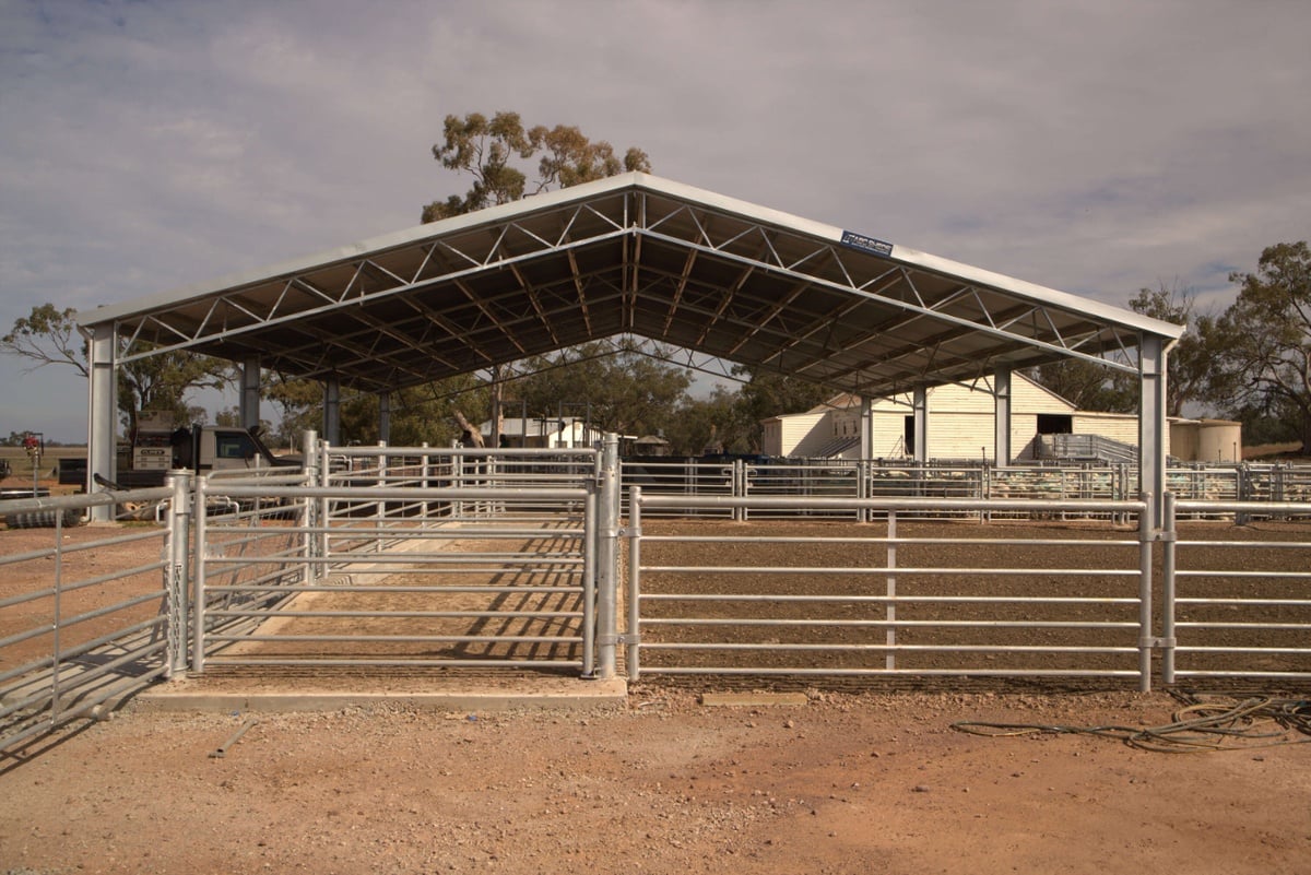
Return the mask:
[[[806, 413], [771, 417], [763, 422], [762, 452], [767, 456], [812, 458], [940, 458], [995, 461], [996, 413], [990, 385], [947, 384], [924, 393], [926, 420], [916, 431], [910, 393], [878, 398], [869, 405], [872, 443], [860, 452], [860, 401], [836, 396]], [[923, 453], [915, 435], [927, 436]], [[1062, 438], [1068, 435], [1071, 438]], [[1076, 410], [1061, 396], [1021, 373], [1011, 382], [1011, 448], [1007, 462], [1029, 461], [1054, 452], [1071, 455], [1133, 455], [1138, 445], [1138, 417]], [[1167, 452], [1169, 451], [1167, 445]]]

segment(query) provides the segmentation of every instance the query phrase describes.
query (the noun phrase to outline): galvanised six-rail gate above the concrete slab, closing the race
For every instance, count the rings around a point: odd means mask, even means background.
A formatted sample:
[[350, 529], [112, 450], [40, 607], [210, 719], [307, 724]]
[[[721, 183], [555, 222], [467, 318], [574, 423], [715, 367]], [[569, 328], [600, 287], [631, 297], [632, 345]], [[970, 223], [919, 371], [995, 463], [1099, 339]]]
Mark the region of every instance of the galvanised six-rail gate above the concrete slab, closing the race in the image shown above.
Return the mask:
[[[258, 487], [208, 485], [248, 500]], [[207, 667], [514, 667], [595, 664], [595, 499], [581, 487], [315, 486], [265, 491], [329, 512], [277, 527], [198, 520], [191, 669]], [[417, 508], [434, 508], [425, 516]], [[545, 508], [556, 508], [547, 517]], [[405, 515], [392, 508], [408, 508]], [[463, 508], [458, 513], [452, 508]], [[480, 510], [473, 510], [480, 508]], [[492, 512], [496, 508], [496, 512]], [[215, 546], [215, 536], [240, 550]], [[385, 549], [362, 549], [384, 542]], [[275, 551], [278, 548], [274, 549]], [[223, 575], [250, 579], [228, 582]], [[248, 624], [249, 629], [236, 624]]]

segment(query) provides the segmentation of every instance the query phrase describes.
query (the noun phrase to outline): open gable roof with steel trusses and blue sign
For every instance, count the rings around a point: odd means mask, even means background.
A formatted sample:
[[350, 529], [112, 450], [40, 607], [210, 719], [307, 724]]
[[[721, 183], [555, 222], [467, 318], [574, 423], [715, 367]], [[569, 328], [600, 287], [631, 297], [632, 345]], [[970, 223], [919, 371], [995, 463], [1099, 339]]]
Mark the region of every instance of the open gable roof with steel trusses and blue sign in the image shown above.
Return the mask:
[[638, 338], [871, 397], [1181, 326], [641, 173], [80, 312], [119, 362], [191, 350], [383, 392]]

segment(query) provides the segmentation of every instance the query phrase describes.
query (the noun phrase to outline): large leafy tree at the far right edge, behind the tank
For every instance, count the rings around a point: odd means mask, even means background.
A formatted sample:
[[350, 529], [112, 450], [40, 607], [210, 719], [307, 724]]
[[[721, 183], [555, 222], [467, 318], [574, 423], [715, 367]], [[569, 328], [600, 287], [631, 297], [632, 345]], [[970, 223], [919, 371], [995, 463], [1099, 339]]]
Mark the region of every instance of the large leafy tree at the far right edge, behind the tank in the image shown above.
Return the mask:
[[1311, 249], [1266, 246], [1256, 272], [1230, 282], [1239, 293], [1214, 330], [1211, 397], [1232, 415], [1277, 413], [1311, 453]]

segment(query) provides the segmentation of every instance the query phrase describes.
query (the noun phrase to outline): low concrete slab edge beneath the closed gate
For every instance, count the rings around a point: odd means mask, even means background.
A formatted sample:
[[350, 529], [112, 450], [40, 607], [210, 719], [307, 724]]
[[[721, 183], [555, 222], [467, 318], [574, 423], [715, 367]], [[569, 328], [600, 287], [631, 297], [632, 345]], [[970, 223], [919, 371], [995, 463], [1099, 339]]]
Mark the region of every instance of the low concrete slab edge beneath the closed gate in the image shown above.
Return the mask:
[[569, 685], [551, 684], [539, 690], [514, 689], [443, 689], [435, 692], [364, 692], [364, 690], [206, 690], [152, 688], [132, 699], [134, 707], [146, 711], [190, 713], [275, 713], [337, 711], [343, 707], [392, 705], [435, 711], [515, 711], [515, 710], [617, 710], [625, 706], [628, 684], [623, 679], [608, 681], [578, 680]]

